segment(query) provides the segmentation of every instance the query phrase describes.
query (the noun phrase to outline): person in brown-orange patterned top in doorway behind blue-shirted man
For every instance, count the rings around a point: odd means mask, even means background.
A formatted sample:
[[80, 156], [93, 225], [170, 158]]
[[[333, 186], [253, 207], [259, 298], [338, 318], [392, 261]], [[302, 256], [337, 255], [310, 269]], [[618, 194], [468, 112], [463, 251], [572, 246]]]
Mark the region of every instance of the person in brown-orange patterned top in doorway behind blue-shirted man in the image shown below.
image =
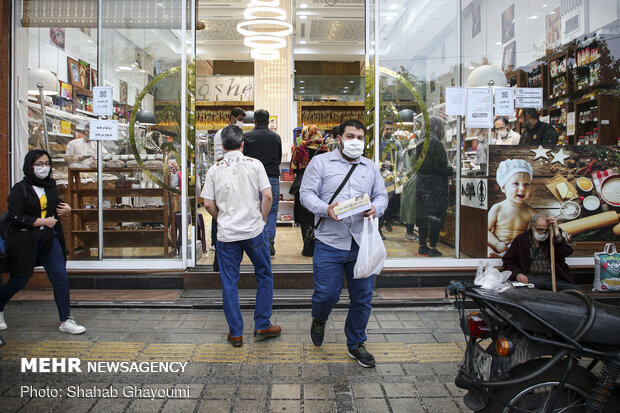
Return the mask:
[[295, 173], [295, 180], [291, 184], [289, 193], [295, 196], [294, 216], [295, 223], [301, 228], [303, 249], [301, 255], [312, 257], [314, 251], [314, 214], [301, 204], [299, 188], [308, 163], [316, 155], [329, 152], [327, 145], [323, 143], [321, 131], [316, 125], [304, 125], [301, 130], [301, 143], [293, 149], [291, 156], [291, 171]]

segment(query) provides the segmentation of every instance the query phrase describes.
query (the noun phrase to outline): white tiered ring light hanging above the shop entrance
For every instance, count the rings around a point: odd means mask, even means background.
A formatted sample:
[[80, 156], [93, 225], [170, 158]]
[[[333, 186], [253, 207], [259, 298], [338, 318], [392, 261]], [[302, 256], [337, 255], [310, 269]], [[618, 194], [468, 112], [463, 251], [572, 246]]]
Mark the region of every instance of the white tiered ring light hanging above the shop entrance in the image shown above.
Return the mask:
[[293, 33], [293, 26], [285, 21], [286, 11], [278, 7], [280, 0], [251, 0], [237, 31], [244, 36], [243, 44], [251, 50], [256, 60], [273, 60], [280, 57], [279, 49], [286, 47], [286, 36]]

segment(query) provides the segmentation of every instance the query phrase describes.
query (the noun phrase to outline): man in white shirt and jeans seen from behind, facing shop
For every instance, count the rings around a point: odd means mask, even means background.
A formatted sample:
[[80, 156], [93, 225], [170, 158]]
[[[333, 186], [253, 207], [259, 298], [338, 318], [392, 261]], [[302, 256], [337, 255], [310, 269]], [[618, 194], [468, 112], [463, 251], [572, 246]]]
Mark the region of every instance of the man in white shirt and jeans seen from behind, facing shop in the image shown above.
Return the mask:
[[271, 184], [261, 162], [243, 155], [243, 146], [241, 128], [229, 125], [222, 130], [223, 162], [211, 165], [201, 192], [205, 208], [217, 220], [216, 253], [224, 315], [229, 326], [227, 339], [233, 347], [243, 345], [243, 317], [237, 284], [244, 252], [252, 261], [256, 276], [254, 337], [277, 337], [282, 330], [269, 321], [273, 272], [265, 223], [271, 209]]

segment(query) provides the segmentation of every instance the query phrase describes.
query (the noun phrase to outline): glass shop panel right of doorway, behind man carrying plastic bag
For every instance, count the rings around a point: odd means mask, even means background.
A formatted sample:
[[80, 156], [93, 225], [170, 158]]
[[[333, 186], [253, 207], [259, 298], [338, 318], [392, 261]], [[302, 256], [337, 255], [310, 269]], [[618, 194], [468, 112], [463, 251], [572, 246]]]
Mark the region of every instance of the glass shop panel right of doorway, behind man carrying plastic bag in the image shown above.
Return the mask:
[[457, 11], [456, 2], [380, 2], [378, 156], [390, 196], [382, 219], [388, 258], [457, 256], [458, 119], [444, 107], [446, 87], [459, 84]]

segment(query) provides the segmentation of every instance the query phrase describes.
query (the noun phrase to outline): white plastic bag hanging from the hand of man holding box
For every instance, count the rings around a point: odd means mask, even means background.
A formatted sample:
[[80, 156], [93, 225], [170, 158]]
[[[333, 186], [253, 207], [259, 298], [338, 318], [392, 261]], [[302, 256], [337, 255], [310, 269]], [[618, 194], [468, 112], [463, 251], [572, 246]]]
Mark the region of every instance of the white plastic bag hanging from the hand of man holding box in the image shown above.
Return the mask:
[[372, 274], [379, 274], [386, 256], [387, 252], [381, 234], [379, 234], [379, 219], [364, 218], [360, 250], [353, 269], [353, 278], [368, 278]]

